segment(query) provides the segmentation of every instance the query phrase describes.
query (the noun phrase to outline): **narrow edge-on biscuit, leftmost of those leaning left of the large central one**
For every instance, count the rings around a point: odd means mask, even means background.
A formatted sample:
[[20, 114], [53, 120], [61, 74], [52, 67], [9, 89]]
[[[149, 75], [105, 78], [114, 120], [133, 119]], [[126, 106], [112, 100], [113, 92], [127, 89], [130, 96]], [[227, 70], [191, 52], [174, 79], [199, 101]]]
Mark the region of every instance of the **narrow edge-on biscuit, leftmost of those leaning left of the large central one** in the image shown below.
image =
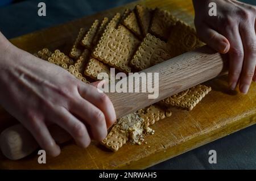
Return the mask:
[[81, 55], [82, 50], [84, 49], [83, 47], [81, 47], [80, 41], [84, 37], [85, 32], [85, 28], [80, 28], [75, 43], [73, 44], [72, 49], [69, 52], [69, 57], [73, 58], [73, 60], [77, 60], [77, 58], [79, 58], [79, 56]]

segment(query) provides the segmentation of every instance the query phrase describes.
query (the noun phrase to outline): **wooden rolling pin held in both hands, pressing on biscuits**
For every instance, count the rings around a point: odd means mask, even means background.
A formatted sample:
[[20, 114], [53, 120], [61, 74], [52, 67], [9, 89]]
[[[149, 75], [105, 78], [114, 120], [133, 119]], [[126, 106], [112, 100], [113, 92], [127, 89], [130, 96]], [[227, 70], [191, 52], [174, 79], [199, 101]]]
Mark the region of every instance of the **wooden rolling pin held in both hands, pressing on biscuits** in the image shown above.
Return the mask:
[[[224, 60], [225, 58], [220, 53], [204, 46], [143, 70], [143, 72], [153, 73], [153, 75], [159, 73], [158, 98], [148, 99], [148, 94], [151, 93], [115, 92], [107, 95], [112, 100], [117, 118], [119, 118], [217, 77], [225, 71]], [[122, 81], [126, 81], [126, 79], [122, 79]], [[142, 79], [141, 83], [146, 85], [146, 80]], [[134, 87], [136, 86], [138, 85]], [[49, 131], [59, 144], [71, 139], [59, 127], [50, 126]], [[24, 158], [39, 148], [30, 132], [20, 124], [3, 131], [0, 141], [2, 153], [7, 158], [14, 160]]]

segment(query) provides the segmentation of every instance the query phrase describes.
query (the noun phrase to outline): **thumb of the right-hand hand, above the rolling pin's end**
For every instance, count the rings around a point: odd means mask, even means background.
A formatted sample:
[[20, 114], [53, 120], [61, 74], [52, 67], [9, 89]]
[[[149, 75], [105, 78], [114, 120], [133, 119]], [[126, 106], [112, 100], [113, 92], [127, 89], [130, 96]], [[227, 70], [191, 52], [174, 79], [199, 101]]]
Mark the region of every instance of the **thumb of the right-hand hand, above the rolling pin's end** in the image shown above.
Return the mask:
[[217, 52], [222, 54], [229, 52], [230, 44], [228, 39], [217, 31], [212, 30], [212, 28], [207, 26], [198, 27], [197, 35], [202, 41], [204, 41], [204, 43], [209, 45], [209, 47], [213, 48]]

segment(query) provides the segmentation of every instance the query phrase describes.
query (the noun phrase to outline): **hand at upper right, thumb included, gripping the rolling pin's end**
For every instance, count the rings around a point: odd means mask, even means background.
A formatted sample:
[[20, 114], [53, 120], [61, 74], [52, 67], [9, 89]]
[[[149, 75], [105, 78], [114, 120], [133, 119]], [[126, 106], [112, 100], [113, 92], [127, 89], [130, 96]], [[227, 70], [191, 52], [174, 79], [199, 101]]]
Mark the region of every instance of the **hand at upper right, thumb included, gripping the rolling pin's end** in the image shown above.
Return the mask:
[[[209, 16], [209, 3], [217, 16]], [[256, 82], [256, 7], [235, 0], [194, 0], [195, 26], [200, 39], [220, 53], [229, 54], [229, 86], [247, 94]]]

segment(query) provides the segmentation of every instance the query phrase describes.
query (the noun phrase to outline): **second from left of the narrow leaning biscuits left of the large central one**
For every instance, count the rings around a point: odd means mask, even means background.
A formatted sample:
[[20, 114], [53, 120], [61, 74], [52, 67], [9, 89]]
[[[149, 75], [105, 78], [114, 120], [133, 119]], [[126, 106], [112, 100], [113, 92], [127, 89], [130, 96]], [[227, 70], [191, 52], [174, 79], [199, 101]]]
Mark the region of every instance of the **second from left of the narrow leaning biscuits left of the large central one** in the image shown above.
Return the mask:
[[93, 39], [94, 36], [97, 33], [98, 27], [99, 27], [99, 21], [95, 20], [92, 27], [90, 27], [90, 30], [85, 34], [85, 36], [81, 40], [81, 45], [84, 46], [87, 49], [92, 49], [93, 47]]

